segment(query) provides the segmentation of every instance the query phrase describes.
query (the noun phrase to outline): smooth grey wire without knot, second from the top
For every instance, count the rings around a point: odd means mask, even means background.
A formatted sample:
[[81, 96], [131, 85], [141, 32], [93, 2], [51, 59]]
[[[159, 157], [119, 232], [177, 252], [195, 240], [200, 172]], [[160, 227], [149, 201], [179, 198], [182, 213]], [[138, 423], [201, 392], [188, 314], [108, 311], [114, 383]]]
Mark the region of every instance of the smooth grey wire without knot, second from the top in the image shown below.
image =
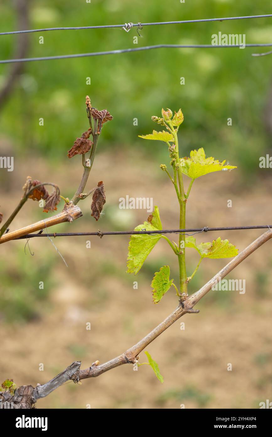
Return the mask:
[[238, 48], [238, 47], [272, 47], [272, 43], [245, 44], [245, 45], [157, 44], [157, 45], [147, 45], [144, 47], [135, 47], [133, 49], [108, 50], [106, 52], [78, 53], [75, 55], [44, 56], [39, 58], [5, 59], [0, 61], [0, 64], [10, 64], [14, 62], [49, 61], [52, 59], [86, 58], [89, 56], [100, 56], [100, 55], [117, 55], [119, 53], [140, 52], [143, 50], [152, 50], [152, 49], [221, 49], [221, 48]]

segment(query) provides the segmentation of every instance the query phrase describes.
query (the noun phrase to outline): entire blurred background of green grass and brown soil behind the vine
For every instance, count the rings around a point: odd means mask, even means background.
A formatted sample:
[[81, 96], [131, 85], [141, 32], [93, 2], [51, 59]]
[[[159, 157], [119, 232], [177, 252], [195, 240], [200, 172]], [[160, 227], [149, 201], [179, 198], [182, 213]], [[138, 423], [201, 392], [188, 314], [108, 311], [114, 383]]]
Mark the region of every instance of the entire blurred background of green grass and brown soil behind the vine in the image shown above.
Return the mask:
[[[18, 14], [18, 4], [27, 14]], [[1, 31], [27, 28], [156, 22], [271, 13], [271, 1], [260, 0], [85, 0], [28, 1], [0, 4]], [[136, 28], [33, 33], [23, 41], [24, 57], [63, 55], [139, 47], [140, 45], [210, 44], [211, 35], [238, 33], [247, 43], [272, 42], [272, 18]], [[39, 37], [44, 44], [39, 44]], [[0, 59], [17, 57], [18, 35], [0, 36]], [[83, 217], [52, 232], [133, 229], [146, 211], [120, 210], [119, 198], [152, 197], [163, 227], [178, 226], [173, 187], [160, 163], [169, 163], [167, 147], [137, 135], [157, 128], [152, 115], [161, 108], [182, 109], [180, 155], [204, 147], [207, 156], [227, 159], [238, 170], [213, 173], [194, 183], [187, 205], [187, 226], [262, 224], [271, 217], [271, 169], [259, 168], [259, 157], [271, 155], [272, 55], [252, 57], [266, 49], [157, 49], [147, 52], [82, 59], [29, 62], [12, 80], [7, 98], [0, 97], [0, 156], [14, 156], [14, 172], [0, 170], [0, 212], [14, 210], [27, 175], [50, 180], [71, 198], [82, 174], [81, 158], [67, 151], [88, 128], [85, 96], [114, 120], [102, 129], [88, 188], [105, 183], [105, 215], [91, 217], [91, 199], [80, 202]], [[0, 96], [13, 65], [0, 65]], [[86, 78], [91, 84], [86, 84]], [[185, 85], [180, 85], [180, 77]], [[44, 126], [39, 125], [44, 118]], [[133, 119], [138, 125], [133, 125]], [[232, 118], [232, 126], [227, 119]], [[185, 181], [187, 186], [187, 180]], [[228, 200], [232, 208], [227, 207]], [[59, 211], [63, 204], [59, 205]], [[44, 218], [37, 202], [28, 201], [10, 229]], [[262, 233], [221, 232], [240, 250]], [[197, 236], [211, 241], [217, 234]], [[173, 239], [177, 236], [173, 235]], [[128, 236], [47, 238], [1, 245], [0, 383], [44, 383], [73, 360], [87, 368], [121, 354], [160, 323], [177, 305], [168, 291], [153, 305], [150, 283], [155, 271], [170, 265], [177, 279], [174, 255], [163, 242], [147, 258], [139, 274], [126, 274]], [[31, 252], [30, 252], [31, 251]], [[187, 250], [187, 270], [197, 263]], [[34, 253], [34, 256], [31, 256]], [[207, 262], [206, 262], [207, 261]], [[190, 292], [207, 282], [226, 260], [204, 260], [190, 283]], [[148, 366], [134, 372], [116, 368], [80, 387], [67, 384], [42, 399], [37, 408], [258, 408], [272, 391], [271, 246], [240, 264], [230, 278], [245, 278], [246, 293], [210, 292], [199, 315], [187, 315], [167, 329], [147, 350], [158, 362], [163, 385]], [[44, 288], [39, 288], [40, 281]], [[138, 281], [138, 289], [133, 288]], [[91, 323], [91, 331], [85, 324]], [[146, 361], [141, 354], [140, 362]], [[7, 359], [8, 357], [8, 359]], [[227, 364], [233, 364], [228, 372]], [[44, 372], [39, 364], [44, 364]], [[184, 377], [186, 375], [186, 378]], [[184, 383], [184, 380], [186, 382]], [[271, 399], [270, 399], [271, 400]]]

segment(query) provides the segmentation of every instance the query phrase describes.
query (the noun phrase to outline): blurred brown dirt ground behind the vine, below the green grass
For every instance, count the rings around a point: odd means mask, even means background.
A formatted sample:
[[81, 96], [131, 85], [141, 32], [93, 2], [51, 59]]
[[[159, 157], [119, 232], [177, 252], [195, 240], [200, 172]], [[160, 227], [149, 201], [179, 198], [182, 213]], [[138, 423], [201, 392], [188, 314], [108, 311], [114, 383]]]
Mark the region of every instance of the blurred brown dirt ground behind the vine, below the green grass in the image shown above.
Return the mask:
[[[112, 228], [110, 220], [113, 220], [109, 215], [121, 217], [121, 214], [123, 224], [119, 229], [132, 229], [148, 214], [141, 210], [119, 210], [118, 200], [126, 194], [153, 197], [154, 205], [160, 208], [164, 228], [177, 227], [177, 201], [164, 173], [158, 170], [151, 177], [151, 164], [146, 162], [140, 168], [135, 152], [110, 157], [100, 154], [100, 158], [95, 162], [89, 185], [103, 179], [107, 204], [113, 209], [106, 209], [105, 216], [96, 224], [90, 214], [90, 202], [86, 200], [80, 205], [84, 217], [62, 229], [109, 230]], [[1, 211], [6, 216], [12, 211], [20, 195], [18, 187], [23, 185], [28, 173], [40, 180], [54, 180], [60, 187], [72, 191], [81, 174], [80, 168], [76, 171], [74, 168], [75, 163], [71, 161], [65, 162], [60, 170], [40, 159], [23, 163], [16, 175], [9, 173], [6, 186], [1, 189]], [[271, 181], [259, 180], [248, 189], [242, 189], [238, 171], [214, 173], [196, 181], [187, 205], [187, 226], [272, 222], [271, 185]], [[232, 208], [227, 208], [228, 199], [232, 200]], [[29, 201], [11, 229], [26, 225], [29, 218], [35, 221], [41, 217], [42, 212], [37, 209], [37, 204]], [[55, 227], [54, 231], [58, 229]], [[243, 249], [261, 233], [262, 230], [232, 231], [221, 232], [220, 236]], [[209, 241], [217, 236], [208, 232], [197, 236], [197, 241]], [[177, 239], [177, 236], [172, 238]], [[169, 264], [170, 269], [176, 262], [165, 241], [160, 241], [148, 257], [155, 270], [152, 271], [151, 265], [136, 277], [127, 274], [126, 278], [122, 272], [126, 269], [128, 237], [90, 239], [92, 247], [88, 250], [85, 237], [54, 240], [68, 269], [48, 239], [30, 241], [35, 253], [31, 262], [35, 262], [35, 257], [39, 263], [44, 257], [54, 259], [50, 274], [55, 286], [50, 291], [49, 306], [41, 305], [40, 318], [36, 321], [0, 322], [1, 381], [13, 378], [17, 385], [35, 386], [38, 382], [47, 382], [76, 359], [82, 360], [82, 368], [95, 360], [108, 361], [131, 347], [175, 308], [177, 297], [173, 290], [158, 305], [153, 305], [151, 298], [153, 273], [162, 262]], [[84, 380], [80, 386], [68, 383], [39, 400], [37, 408], [86, 408], [87, 404], [92, 409], [177, 409], [180, 404], [186, 408], [258, 408], [259, 402], [271, 401], [271, 244], [268, 242], [259, 248], [229, 275], [246, 280], [244, 295], [237, 291], [211, 291], [199, 304], [199, 314], [186, 315], [147, 347], [160, 366], [164, 384], [160, 384], [149, 367], [141, 366], [133, 371], [132, 366], [126, 365], [99, 378]], [[12, 263], [17, 248], [23, 251], [24, 243], [2, 245], [2, 256]], [[193, 250], [187, 253], [192, 268], [197, 257]], [[29, 253], [26, 256], [30, 257]], [[204, 260], [190, 292], [209, 280], [224, 264], [226, 260]], [[266, 293], [259, 293], [258, 271], [265, 272]], [[46, 281], [46, 278], [40, 280]], [[138, 281], [137, 290], [133, 289], [133, 281]], [[90, 331], [85, 329], [87, 322], [91, 323]], [[185, 330], [180, 330], [180, 322], [185, 322]], [[143, 353], [139, 361], [146, 361]], [[39, 371], [40, 363], [44, 364], [44, 371]], [[232, 364], [232, 371], [227, 371], [228, 363]]]

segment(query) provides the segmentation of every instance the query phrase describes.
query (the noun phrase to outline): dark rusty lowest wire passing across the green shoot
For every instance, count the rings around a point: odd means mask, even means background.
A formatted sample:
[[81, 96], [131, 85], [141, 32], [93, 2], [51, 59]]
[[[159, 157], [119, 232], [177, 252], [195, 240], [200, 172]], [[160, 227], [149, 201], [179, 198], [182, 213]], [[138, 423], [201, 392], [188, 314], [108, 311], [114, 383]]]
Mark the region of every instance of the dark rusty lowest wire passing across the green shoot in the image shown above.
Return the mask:
[[[16, 240], [25, 239], [25, 238], [34, 238], [34, 237], [75, 237], [75, 236], [99, 236], [102, 238], [104, 235], [137, 235], [137, 234], [181, 234], [185, 232], [208, 232], [208, 231], [236, 231], [241, 229], [265, 229], [272, 228], [272, 225], [256, 225], [256, 226], [229, 226], [224, 228], [209, 228], [208, 226], [204, 226], [204, 228], [197, 229], [163, 229], [158, 231], [146, 231], [145, 229], [142, 231], [109, 231], [109, 232], [54, 232], [52, 234], [27, 234], [22, 237], [14, 238]], [[271, 229], [270, 229], [271, 230]], [[41, 232], [41, 231], [40, 231]], [[272, 232], [272, 231], [271, 231]]]

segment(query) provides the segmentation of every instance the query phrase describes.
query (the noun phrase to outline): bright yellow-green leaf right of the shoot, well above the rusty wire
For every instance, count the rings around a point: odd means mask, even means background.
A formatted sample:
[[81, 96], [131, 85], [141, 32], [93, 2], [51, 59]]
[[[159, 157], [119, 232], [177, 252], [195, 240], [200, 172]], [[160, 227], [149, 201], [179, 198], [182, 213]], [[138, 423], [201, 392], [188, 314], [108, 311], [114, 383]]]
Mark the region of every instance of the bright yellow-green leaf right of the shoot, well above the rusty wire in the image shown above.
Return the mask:
[[214, 160], [212, 156], [206, 158], [203, 147], [198, 150], [192, 150], [190, 158], [180, 159], [180, 169], [182, 173], [189, 176], [191, 179], [204, 176], [204, 174], [212, 173], [220, 170], [232, 170], [236, 166], [224, 165], [226, 161]]

